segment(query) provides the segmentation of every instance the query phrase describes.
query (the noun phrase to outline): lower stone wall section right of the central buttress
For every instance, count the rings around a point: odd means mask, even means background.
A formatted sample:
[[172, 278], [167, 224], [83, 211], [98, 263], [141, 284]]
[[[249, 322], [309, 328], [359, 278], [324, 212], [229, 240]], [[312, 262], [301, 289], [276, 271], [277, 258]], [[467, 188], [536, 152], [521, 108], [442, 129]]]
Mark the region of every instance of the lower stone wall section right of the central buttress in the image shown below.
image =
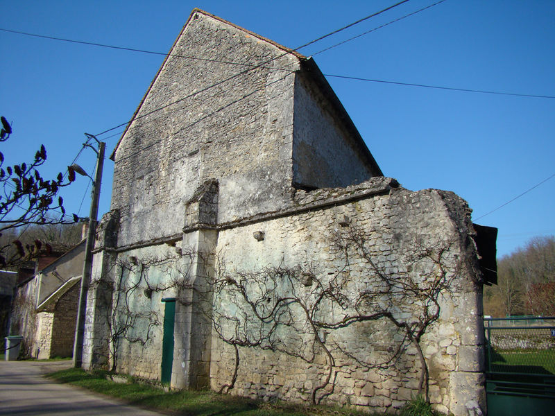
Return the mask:
[[[396, 279], [425, 287], [443, 268], [450, 284], [436, 297], [441, 313], [420, 340], [429, 367], [429, 397], [437, 410], [455, 415], [466, 414], [465, 405], [471, 399], [485, 408], [480, 285], [473, 268], [476, 253], [465, 202], [442, 191], [380, 191], [379, 187], [300, 193], [297, 202], [292, 209], [297, 212], [221, 230], [216, 249], [221, 276], [238, 282], [243, 279], [241, 287], [251, 293], [256, 305], [262, 303], [261, 293], [270, 288], [268, 293], [302, 299], [313, 308], [311, 312], [322, 317], [335, 316], [321, 318], [321, 322], [339, 322], [349, 315], [339, 296], [377, 293], [383, 284], [377, 275], [386, 275], [398, 282], [397, 288], [408, 291], [410, 287]], [[354, 229], [360, 240], [347, 241], [346, 252], [341, 252], [337, 235], [349, 229]], [[357, 243], [364, 245], [367, 257], [353, 248]], [[429, 250], [430, 257], [432, 252], [433, 256], [441, 252], [443, 257], [437, 263], [428, 258], [415, 261], [420, 249]], [[282, 279], [291, 279], [286, 276], [291, 270], [301, 274], [309, 270], [322, 289], [314, 284], [307, 287], [301, 279], [297, 286], [277, 281], [271, 277], [277, 268], [286, 270]], [[265, 289], [257, 281], [261, 272], [266, 273]], [[339, 280], [344, 286], [336, 288], [341, 292], [337, 302], [314, 308], [315, 297], [325, 288], [339, 286]], [[383, 293], [382, 300], [373, 297], [375, 304], [364, 313], [388, 311], [397, 322], [409, 325], [421, 320], [426, 309], [422, 309], [422, 300], [395, 290]], [[325, 347], [333, 359], [330, 365], [323, 347], [314, 341], [314, 331], [309, 330], [310, 320], [303, 318], [299, 308], [287, 311], [292, 313], [291, 322], [277, 324], [274, 336], [266, 337], [275, 320], [257, 326], [249, 311], [252, 305], [238, 306], [244, 301], [241, 296], [229, 292], [214, 296], [215, 327], [219, 327], [212, 335], [214, 390], [233, 380], [236, 345], [239, 365], [230, 389], [233, 394], [309, 401], [314, 389], [325, 384], [316, 394], [321, 401], [382, 411], [400, 408], [418, 392], [418, 349], [386, 316], [332, 329], [321, 325], [318, 338], [326, 338]], [[431, 299], [425, 302], [433, 309]], [[234, 318], [242, 322], [237, 324]], [[325, 383], [328, 372], [331, 379]]]

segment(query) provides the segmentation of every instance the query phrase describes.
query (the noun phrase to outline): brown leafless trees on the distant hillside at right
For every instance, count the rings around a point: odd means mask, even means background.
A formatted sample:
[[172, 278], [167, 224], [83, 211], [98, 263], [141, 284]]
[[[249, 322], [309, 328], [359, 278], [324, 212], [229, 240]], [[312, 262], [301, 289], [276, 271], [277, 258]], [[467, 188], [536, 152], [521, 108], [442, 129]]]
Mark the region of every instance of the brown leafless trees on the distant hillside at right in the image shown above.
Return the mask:
[[484, 314], [555, 315], [555, 236], [535, 237], [497, 261], [497, 286], [484, 291]]

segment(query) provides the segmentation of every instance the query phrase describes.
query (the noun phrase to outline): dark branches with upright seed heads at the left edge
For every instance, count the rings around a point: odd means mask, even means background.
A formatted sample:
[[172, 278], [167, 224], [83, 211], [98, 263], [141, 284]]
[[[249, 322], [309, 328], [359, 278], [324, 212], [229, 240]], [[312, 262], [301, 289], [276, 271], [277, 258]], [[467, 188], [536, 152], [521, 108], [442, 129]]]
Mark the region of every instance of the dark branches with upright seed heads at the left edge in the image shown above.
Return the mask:
[[[10, 138], [12, 127], [4, 117], [1, 117], [1, 124], [0, 142], [4, 142]], [[44, 145], [28, 163], [8, 165], [0, 152], [0, 237], [19, 234], [21, 227], [29, 225], [67, 223], [64, 201], [59, 193], [60, 189], [74, 182], [75, 172], [68, 168], [67, 178], [60, 172], [55, 179], [46, 180], [38, 171], [45, 162]], [[51, 250], [51, 245], [40, 239], [27, 242], [3, 239], [0, 267], [16, 266], [28, 259], [47, 255]]]

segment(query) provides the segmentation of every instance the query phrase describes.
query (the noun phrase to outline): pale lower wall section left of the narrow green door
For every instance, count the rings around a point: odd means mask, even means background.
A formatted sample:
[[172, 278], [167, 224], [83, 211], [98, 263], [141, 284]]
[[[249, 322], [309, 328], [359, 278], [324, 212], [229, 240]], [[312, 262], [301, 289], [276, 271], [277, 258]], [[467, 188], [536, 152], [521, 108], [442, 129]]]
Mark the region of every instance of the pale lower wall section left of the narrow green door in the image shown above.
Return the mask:
[[[110, 362], [119, 372], [160, 380], [164, 298], [178, 297], [182, 264], [175, 248], [157, 245], [120, 254], [110, 313]], [[184, 266], [187, 268], [187, 266]]]

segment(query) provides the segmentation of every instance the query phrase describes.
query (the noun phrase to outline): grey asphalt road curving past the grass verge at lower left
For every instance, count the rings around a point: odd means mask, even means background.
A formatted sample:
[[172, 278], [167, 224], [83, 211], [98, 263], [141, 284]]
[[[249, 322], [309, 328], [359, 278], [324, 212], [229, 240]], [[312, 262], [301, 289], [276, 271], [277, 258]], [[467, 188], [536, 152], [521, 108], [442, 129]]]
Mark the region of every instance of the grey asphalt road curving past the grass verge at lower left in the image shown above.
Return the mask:
[[42, 376], [70, 366], [71, 361], [0, 361], [0, 415], [162, 415]]

